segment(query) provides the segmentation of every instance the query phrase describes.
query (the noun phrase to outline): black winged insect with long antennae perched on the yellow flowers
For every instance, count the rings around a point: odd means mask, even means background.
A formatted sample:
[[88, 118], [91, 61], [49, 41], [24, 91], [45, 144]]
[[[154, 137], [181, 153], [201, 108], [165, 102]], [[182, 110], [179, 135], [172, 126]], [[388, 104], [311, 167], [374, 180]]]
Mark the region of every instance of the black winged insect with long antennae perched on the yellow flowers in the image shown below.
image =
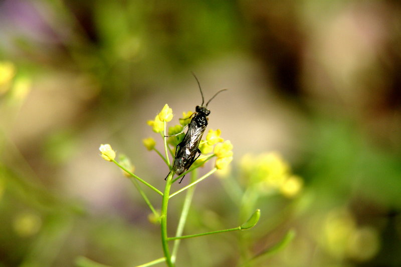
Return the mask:
[[[192, 119], [189, 122], [188, 125], [188, 130], [185, 133], [184, 138], [182, 141], [177, 145], [175, 149], [175, 157], [174, 157], [174, 162], [172, 164], [172, 168], [170, 172], [167, 174], [166, 178], [167, 179], [168, 175], [171, 172], [175, 172], [177, 175], [181, 175], [185, 171], [189, 169], [189, 167], [195, 162], [195, 160], [200, 156], [202, 152], [199, 150], [199, 143], [200, 139], [202, 139], [202, 136], [206, 130], [206, 126], [208, 126], [208, 116], [210, 114], [210, 110], [208, 109], [209, 103], [221, 92], [226, 91], [227, 89], [220, 90], [217, 92], [209, 101], [206, 103], [206, 106], [204, 107], [205, 99], [204, 99], [204, 94], [202, 92], [202, 88], [200, 88], [200, 83], [196, 76], [192, 73], [193, 77], [195, 77], [197, 85], [199, 87], [200, 95], [202, 96], [202, 105], [196, 106], [195, 108], [195, 113], [193, 113], [191, 116]], [[184, 129], [186, 128], [184, 127]], [[183, 132], [184, 130], [182, 130]], [[182, 133], [181, 132], [181, 133]], [[181, 134], [178, 133], [178, 134]], [[178, 135], [176, 134], [176, 135]], [[175, 135], [170, 135], [170, 136], [175, 136]], [[168, 136], [168, 137], [170, 137]], [[184, 175], [185, 176], [185, 175]], [[181, 180], [179, 183], [181, 183], [182, 179], [184, 178], [182, 176]]]

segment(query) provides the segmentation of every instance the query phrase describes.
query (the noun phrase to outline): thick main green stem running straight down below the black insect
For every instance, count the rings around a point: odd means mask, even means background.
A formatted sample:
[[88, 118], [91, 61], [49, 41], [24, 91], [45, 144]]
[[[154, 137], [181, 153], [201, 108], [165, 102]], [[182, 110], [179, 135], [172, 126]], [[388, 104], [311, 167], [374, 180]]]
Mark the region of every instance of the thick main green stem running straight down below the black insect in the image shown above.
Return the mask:
[[170, 251], [168, 249], [168, 237], [167, 237], [167, 205], [168, 205], [168, 194], [171, 188], [171, 179], [174, 173], [170, 172], [167, 176], [166, 186], [164, 189], [163, 198], [161, 201], [161, 244], [163, 246], [164, 257], [167, 266], [174, 267], [174, 263], [171, 261]]

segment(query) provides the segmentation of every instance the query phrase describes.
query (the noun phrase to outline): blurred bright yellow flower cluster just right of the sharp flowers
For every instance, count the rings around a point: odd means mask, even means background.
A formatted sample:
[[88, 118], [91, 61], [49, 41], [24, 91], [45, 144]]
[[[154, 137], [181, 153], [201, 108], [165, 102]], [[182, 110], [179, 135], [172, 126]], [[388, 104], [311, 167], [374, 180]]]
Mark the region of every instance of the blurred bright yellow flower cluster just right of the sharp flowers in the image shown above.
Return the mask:
[[293, 197], [302, 188], [302, 179], [292, 174], [288, 163], [277, 152], [246, 154], [241, 159], [241, 169], [247, 182], [257, 185], [264, 193], [279, 191]]

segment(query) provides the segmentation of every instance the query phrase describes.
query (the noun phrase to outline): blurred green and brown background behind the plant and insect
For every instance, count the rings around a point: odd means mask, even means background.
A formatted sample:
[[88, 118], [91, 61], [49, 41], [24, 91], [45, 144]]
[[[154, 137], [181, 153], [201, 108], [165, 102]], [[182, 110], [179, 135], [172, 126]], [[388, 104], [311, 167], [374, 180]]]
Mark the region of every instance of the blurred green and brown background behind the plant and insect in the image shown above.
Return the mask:
[[[162, 256], [159, 225], [98, 148], [163, 188], [141, 140], [165, 103], [176, 118], [201, 103], [190, 71], [206, 99], [229, 88], [208, 126], [234, 145], [229, 179], [245, 188], [240, 159], [278, 151], [303, 188], [259, 196], [242, 235], [182, 241], [178, 266], [237, 266], [244, 243], [257, 254], [290, 228], [254, 266], [400, 266], [400, 44], [392, 0], [0, 1], [0, 266]], [[185, 234], [239, 225], [224, 183], [198, 186]]]

